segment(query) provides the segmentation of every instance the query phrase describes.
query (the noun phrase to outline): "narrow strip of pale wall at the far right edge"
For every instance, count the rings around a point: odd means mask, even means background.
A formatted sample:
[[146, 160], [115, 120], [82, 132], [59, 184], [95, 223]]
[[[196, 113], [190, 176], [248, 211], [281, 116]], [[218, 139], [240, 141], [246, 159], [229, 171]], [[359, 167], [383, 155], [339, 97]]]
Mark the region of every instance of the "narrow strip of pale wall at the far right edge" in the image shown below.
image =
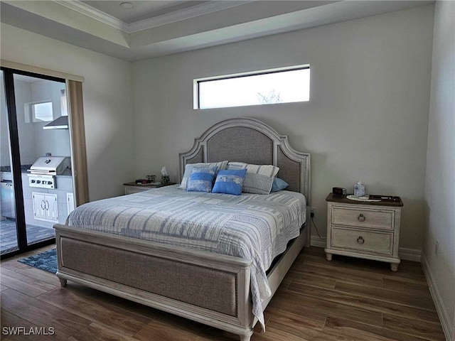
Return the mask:
[[[455, 332], [455, 2], [437, 1], [434, 13], [424, 229], [424, 265], [446, 337]], [[439, 242], [438, 254], [435, 244]], [[455, 335], [454, 335], [455, 336]], [[455, 339], [452, 339], [455, 340]]]

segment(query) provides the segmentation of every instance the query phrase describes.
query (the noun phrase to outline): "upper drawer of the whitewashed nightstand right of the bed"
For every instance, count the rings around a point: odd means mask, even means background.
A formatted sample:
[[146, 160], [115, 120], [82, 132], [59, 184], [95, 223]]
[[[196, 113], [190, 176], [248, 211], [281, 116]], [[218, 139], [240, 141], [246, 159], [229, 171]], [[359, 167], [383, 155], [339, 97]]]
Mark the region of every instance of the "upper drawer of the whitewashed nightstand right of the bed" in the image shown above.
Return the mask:
[[368, 210], [363, 208], [332, 208], [332, 224], [368, 229], [394, 229], [395, 211]]

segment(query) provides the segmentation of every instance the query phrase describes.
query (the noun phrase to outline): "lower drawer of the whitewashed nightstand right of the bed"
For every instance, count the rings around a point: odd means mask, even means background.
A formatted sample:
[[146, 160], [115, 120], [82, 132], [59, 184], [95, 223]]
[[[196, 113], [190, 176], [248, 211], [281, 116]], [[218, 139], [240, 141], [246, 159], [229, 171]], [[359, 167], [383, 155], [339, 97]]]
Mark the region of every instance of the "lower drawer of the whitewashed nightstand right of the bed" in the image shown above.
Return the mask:
[[393, 233], [332, 227], [331, 247], [391, 255], [393, 253]]

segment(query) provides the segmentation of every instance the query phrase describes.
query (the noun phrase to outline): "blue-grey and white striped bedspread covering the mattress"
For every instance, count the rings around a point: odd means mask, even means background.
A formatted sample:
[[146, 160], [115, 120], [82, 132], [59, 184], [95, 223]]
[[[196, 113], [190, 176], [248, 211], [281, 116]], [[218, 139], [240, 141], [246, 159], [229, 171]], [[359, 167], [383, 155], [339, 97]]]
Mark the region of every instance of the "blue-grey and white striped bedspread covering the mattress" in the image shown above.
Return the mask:
[[305, 215], [301, 193], [228, 195], [172, 185], [89, 202], [66, 224], [252, 260], [253, 314], [264, 325], [261, 303], [271, 295], [266, 271], [299, 236]]

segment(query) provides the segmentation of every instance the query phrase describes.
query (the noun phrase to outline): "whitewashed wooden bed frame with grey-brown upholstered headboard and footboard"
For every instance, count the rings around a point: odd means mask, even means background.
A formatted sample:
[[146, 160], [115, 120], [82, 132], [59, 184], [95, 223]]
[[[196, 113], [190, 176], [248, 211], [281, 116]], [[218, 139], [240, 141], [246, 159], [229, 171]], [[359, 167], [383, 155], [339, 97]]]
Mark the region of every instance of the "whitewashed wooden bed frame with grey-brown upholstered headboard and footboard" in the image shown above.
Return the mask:
[[[279, 178], [289, 183], [289, 190], [303, 193], [309, 207], [310, 155], [295, 151], [287, 136], [267, 124], [257, 119], [215, 124], [195, 140], [191, 151], [180, 154], [180, 176], [186, 163], [223, 160], [278, 166]], [[250, 298], [250, 260], [62, 224], [54, 228], [56, 275], [62, 286], [67, 280], [82, 283], [250, 340], [257, 323]], [[269, 269], [272, 296], [309, 241], [310, 229], [304, 224], [299, 237]], [[262, 303], [264, 309], [271, 298]]]

